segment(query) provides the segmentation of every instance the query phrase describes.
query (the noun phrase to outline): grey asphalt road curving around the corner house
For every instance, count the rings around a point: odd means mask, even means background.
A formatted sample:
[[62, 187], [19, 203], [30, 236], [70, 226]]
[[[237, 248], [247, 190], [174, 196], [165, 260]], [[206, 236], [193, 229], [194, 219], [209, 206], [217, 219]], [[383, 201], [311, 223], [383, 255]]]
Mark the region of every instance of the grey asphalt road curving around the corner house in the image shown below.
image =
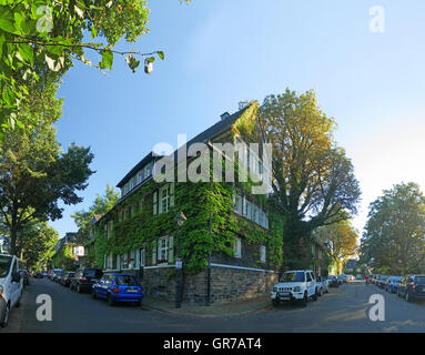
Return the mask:
[[[48, 294], [52, 300], [52, 321], [36, 317], [36, 298]], [[385, 321], [368, 317], [370, 296], [381, 294], [385, 300]], [[31, 280], [22, 306], [12, 310], [9, 326], [0, 333], [42, 332], [113, 332], [113, 333], [286, 333], [286, 332], [425, 332], [425, 303], [407, 303], [396, 294], [385, 293], [363, 282], [331, 288], [305, 308], [283, 304], [237, 316], [202, 317], [146, 311], [133, 305], [111, 307], [107, 302], [92, 300], [90, 294], [78, 294], [49, 280]]]

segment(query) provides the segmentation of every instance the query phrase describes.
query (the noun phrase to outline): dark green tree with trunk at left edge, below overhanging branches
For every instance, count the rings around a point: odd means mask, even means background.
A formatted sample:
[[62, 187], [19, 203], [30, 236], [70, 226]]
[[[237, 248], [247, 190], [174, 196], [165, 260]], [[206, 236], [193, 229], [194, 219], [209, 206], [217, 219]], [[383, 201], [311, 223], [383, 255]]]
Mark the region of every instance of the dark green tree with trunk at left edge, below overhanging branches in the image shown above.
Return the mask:
[[33, 220], [54, 221], [62, 216], [64, 204], [82, 201], [77, 192], [87, 187], [93, 173], [90, 148], [74, 143], [67, 152], [55, 141], [52, 123], [61, 114], [55, 84], [36, 92], [21, 103], [19, 119], [37, 122], [29, 130], [8, 130], [0, 145], [0, 223], [8, 230], [10, 252], [17, 253], [19, 232]]

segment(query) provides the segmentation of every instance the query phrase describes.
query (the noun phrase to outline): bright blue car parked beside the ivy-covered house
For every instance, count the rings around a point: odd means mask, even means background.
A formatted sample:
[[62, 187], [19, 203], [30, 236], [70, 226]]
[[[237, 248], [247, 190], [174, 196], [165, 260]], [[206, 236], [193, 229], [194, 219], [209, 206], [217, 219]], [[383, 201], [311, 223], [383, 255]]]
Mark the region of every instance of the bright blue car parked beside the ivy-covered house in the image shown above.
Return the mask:
[[104, 298], [112, 306], [117, 302], [134, 302], [141, 304], [143, 298], [142, 285], [136, 276], [131, 274], [104, 274], [94, 283], [93, 298]]

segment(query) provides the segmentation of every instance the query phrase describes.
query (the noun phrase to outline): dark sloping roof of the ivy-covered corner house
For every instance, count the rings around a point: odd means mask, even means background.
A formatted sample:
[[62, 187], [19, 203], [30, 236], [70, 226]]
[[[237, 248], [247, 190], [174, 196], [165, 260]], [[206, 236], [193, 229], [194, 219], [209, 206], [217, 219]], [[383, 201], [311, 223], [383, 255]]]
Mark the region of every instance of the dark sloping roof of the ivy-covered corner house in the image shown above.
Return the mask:
[[[206, 143], [209, 140], [213, 139], [214, 136], [225, 132], [229, 130], [232, 124], [236, 122], [236, 120], [242, 115], [242, 113], [247, 109], [243, 108], [242, 110], [227, 115], [225, 119], [220, 120], [202, 133], [198, 134], [195, 138], [190, 140], [186, 143], [186, 148], [190, 146], [193, 143]], [[176, 160], [178, 150], [174, 152], [174, 161]], [[128, 183], [128, 181], [134, 176], [134, 174], [141, 170], [145, 164], [151, 162], [154, 159], [160, 159], [161, 156], [153, 156], [153, 152], [150, 152], [146, 156], [144, 156], [132, 170], [130, 170], [127, 175], [117, 184], [117, 187], [122, 187]]]

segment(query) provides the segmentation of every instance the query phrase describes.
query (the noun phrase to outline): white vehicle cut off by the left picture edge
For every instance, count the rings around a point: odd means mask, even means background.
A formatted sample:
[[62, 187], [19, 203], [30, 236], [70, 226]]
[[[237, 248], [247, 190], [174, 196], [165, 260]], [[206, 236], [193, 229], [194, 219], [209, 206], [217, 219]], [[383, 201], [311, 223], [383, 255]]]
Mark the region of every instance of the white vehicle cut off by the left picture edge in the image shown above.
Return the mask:
[[0, 254], [0, 326], [6, 327], [13, 307], [19, 307], [22, 297], [22, 262], [14, 255]]

